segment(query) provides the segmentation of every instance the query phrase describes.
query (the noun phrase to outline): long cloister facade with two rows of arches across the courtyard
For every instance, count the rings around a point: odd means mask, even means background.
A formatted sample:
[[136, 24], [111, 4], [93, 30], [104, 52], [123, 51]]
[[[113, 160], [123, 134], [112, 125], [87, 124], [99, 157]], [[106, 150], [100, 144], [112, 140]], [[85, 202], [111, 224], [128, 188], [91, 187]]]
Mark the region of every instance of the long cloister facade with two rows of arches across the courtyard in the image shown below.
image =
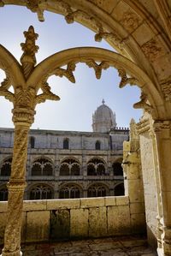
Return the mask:
[[[102, 104], [101, 114], [103, 108], [109, 110]], [[112, 110], [109, 110], [109, 120], [101, 122], [101, 129], [99, 121], [103, 120], [103, 115], [100, 111], [93, 123], [98, 122], [100, 131], [109, 128], [105, 133], [30, 130], [25, 199], [124, 194], [122, 145], [128, 140], [129, 130], [114, 128]], [[13, 145], [14, 129], [0, 128], [1, 200], [7, 199], [6, 182], [9, 181]]]

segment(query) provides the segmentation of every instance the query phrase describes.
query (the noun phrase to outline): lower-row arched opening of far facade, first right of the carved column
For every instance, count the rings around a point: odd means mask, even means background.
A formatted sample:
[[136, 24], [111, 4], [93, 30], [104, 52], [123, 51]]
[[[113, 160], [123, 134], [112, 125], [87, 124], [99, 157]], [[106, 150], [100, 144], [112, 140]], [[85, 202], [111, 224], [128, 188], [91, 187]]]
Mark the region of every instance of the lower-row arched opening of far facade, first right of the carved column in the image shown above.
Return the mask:
[[30, 191], [29, 198], [31, 200], [36, 199], [52, 199], [53, 198], [53, 191], [47, 185], [37, 185]]

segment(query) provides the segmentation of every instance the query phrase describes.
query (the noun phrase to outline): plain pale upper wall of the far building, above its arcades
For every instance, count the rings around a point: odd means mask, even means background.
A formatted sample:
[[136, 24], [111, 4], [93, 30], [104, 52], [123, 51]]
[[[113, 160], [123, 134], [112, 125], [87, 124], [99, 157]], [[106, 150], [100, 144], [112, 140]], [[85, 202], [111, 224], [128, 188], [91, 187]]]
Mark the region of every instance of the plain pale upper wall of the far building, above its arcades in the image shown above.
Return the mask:
[[[109, 133], [91, 133], [76, 131], [53, 131], [31, 129], [29, 136], [34, 137], [36, 149], [61, 149], [63, 148], [63, 140], [69, 139], [69, 150], [95, 150], [96, 141], [100, 141], [101, 150], [122, 150], [122, 143], [127, 140], [129, 131], [127, 129], [118, 128]], [[110, 141], [111, 140], [111, 141]], [[29, 140], [30, 141], [30, 140]], [[0, 146], [13, 147], [14, 129], [0, 128]], [[30, 147], [30, 143], [28, 147]]]

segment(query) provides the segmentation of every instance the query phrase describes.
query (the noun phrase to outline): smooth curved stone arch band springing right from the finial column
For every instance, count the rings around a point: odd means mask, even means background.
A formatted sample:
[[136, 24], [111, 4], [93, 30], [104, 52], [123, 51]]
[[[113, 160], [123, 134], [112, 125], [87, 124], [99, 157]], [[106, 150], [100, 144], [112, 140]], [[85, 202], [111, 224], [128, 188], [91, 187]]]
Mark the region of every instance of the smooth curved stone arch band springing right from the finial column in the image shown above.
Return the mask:
[[[154, 109], [155, 118], [162, 117], [166, 113], [164, 111], [163, 98], [157, 91], [155, 85], [150, 77], [139, 66], [127, 57], [123, 57], [113, 51], [105, 50], [97, 47], [78, 47], [65, 51], [57, 52], [39, 63], [33, 70], [32, 74], [27, 80], [27, 84], [31, 86], [39, 85], [44, 80], [45, 76], [56, 74], [56, 68], [61, 68], [69, 62], [86, 63], [88, 60], [95, 62], [106, 62], [109, 66], [114, 68], [123, 68], [127, 74], [137, 79], [137, 86], [148, 95], [150, 105]], [[73, 80], [74, 81], [74, 80]], [[38, 90], [38, 87], [36, 88]], [[166, 117], [167, 118], [167, 117]]]

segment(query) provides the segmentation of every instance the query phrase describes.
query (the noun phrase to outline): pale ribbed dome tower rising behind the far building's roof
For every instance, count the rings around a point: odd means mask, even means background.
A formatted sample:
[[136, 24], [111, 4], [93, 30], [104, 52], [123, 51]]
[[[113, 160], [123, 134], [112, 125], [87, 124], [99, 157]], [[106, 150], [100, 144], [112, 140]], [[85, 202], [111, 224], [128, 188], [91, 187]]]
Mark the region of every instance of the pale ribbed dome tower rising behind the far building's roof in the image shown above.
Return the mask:
[[110, 108], [104, 104], [97, 108], [97, 110], [92, 115], [92, 130], [97, 133], [109, 133], [111, 128], [116, 127], [115, 113], [110, 110]]

